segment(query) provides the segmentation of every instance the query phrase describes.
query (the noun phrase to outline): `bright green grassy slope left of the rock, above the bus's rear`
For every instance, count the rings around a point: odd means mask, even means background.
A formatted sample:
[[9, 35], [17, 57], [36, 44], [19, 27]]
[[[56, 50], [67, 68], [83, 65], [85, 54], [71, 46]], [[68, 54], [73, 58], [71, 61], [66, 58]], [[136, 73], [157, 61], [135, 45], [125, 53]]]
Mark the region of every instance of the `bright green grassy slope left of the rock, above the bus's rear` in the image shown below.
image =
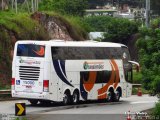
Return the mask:
[[[0, 25], [9, 31], [14, 31], [18, 39], [46, 39], [44, 28], [30, 18], [30, 14], [12, 12], [0, 13]], [[36, 29], [38, 28], [38, 29]]]

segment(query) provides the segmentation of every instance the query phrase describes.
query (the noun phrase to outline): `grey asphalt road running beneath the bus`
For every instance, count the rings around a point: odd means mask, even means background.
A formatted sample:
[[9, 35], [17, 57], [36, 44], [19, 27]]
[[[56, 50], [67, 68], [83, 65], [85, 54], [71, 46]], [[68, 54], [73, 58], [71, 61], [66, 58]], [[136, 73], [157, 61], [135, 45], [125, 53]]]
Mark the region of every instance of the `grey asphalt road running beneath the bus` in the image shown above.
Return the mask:
[[156, 97], [143, 95], [123, 98], [117, 103], [83, 103], [80, 105], [62, 106], [53, 103], [49, 106], [31, 106], [26, 100], [1, 101], [0, 114], [15, 114], [15, 103], [26, 103], [26, 114], [32, 120], [124, 120], [126, 113], [138, 113], [153, 108]]

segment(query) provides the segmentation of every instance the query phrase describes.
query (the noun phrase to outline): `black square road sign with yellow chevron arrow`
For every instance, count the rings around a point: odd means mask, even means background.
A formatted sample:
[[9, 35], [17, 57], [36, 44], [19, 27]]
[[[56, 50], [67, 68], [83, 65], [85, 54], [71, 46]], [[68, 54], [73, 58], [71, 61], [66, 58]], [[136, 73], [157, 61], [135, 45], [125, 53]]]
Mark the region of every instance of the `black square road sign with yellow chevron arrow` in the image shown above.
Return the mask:
[[25, 105], [25, 103], [16, 103], [15, 104], [15, 115], [16, 116], [26, 115], [26, 105]]

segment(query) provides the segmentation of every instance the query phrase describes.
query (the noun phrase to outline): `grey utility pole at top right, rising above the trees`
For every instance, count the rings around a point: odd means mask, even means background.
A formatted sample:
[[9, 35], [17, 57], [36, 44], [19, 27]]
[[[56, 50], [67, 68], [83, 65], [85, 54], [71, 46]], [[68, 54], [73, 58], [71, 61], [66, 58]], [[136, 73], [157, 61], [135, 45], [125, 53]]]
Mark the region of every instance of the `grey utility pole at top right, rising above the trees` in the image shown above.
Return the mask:
[[146, 0], [146, 27], [149, 27], [150, 19], [150, 0]]

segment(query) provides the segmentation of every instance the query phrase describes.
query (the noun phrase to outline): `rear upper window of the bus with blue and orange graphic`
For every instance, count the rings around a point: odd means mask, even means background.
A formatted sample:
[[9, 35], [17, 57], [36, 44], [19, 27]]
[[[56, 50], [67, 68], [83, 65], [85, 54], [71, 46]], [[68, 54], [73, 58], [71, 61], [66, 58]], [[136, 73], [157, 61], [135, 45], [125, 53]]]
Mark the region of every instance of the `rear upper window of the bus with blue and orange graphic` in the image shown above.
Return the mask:
[[24, 57], [44, 57], [45, 46], [34, 44], [18, 44], [17, 56]]

